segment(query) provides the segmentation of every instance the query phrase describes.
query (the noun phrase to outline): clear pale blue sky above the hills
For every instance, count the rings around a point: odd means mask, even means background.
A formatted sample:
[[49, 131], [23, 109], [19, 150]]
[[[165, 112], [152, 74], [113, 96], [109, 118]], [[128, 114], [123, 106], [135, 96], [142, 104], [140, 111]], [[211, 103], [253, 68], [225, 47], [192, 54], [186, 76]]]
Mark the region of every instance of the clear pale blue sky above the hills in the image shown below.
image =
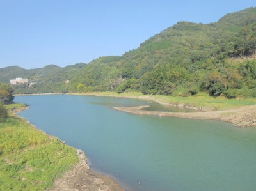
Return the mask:
[[179, 21], [216, 22], [255, 0], [0, 0], [0, 68], [122, 56]]

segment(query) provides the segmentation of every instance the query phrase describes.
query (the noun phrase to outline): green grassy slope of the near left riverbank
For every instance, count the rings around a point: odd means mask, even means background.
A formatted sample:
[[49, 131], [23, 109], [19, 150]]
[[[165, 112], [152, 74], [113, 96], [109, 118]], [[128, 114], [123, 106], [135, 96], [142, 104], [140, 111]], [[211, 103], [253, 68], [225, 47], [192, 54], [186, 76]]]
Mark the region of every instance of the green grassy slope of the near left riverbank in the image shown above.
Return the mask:
[[23, 104], [11, 104], [8, 118], [0, 123], [0, 190], [45, 190], [78, 162], [76, 149], [56, 137], [40, 132], [11, 109]]

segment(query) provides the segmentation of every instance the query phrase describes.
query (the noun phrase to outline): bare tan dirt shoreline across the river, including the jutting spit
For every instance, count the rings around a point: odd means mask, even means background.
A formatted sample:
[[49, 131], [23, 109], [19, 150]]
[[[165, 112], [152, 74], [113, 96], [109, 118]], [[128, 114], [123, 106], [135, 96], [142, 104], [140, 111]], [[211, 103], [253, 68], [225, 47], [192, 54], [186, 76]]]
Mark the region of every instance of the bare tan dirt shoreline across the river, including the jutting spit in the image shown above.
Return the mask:
[[[28, 95], [60, 95], [63, 93], [40, 93], [40, 94], [28, 94]], [[27, 95], [27, 94], [25, 94]], [[143, 107], [115, 107], [115, 109], [124, 112], [130, 112], [132, 114], [141, 114], [141, 115], [154, 115], [154, 116], [170, 116], [177, 118], [192, 118], [192, 119], [209, 119], [209, 120], [218, 120], [218, 121], [226, 121], [228, 123], [232, 123], [239, 127], [246, 126], [256, 126], [256, 104], [255, 105], [246, 105], [239, 106], [230, 109], [223, 109], [220, 111], [215, 111], [214, 107], [196, 107], [193, 104], [184, 104], [184, 103], [173, 103], [173, 102], [163, 102], [158, 99], [156, 96], [150, 95], [129, 95], [127, 94], [114, 94], [114, 93], [67, 93], [65, 95], [93, 95], [93, 96], [112, 96], [112, 97], [120, 97], [120, 98], [136, 98], [141, 100], [151, 100], [162, 105], [168, 105], [170, 107], [184, 107], [187, 109], [193, 109], [195, 112], [184, 113], [184, 112], [156, 112], [156, 111], [144, 111], [141, 110]], [[22, 96], [22, 95], [14, 95], [14, 96]], [[200, 111], [200, 112], [196, 112]]]

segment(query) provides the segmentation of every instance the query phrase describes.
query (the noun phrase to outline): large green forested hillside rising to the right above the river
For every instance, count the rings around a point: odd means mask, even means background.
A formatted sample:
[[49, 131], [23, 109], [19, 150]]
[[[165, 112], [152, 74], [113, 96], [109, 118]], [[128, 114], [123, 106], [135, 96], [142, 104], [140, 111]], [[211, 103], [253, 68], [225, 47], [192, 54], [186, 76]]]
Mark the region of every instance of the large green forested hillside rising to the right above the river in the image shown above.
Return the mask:
[[[64, 72], [59, 84], [55, 80], [61, 75], [54, 72], [42, 84], [45, 92], [140, 91], [173, 96], [207, 92], [227, 98], [256, 97], [255, 60], [253, 7], [210, 24], [178, 22], [123, 56], [99, 57], [83, 69]], [[70, 82], [65, 84], [67, 79]], [[15, 93], [23, 90], [15, 88]]]

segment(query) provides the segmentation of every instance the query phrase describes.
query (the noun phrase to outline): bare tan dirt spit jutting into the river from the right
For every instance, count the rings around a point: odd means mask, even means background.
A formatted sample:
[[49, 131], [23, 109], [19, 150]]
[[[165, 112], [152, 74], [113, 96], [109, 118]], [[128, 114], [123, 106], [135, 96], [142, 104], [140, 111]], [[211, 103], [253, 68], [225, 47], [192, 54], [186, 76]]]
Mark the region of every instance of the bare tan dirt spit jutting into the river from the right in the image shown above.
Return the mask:
[[230, 109], [225, 111], [207, 111], [207, 112], [158, 112], [158, 111], [144, 111], [141, 110], [148, 105], [138, 107], [114, 107], [119, 111], [125, 111], [132, 114], [140, 115], [155, 115], [155, 116], [170, 116], [177, 118], [191, 118], [191, 119], [211, 119], [227, 121], [236, 126], [256, 126], [256, 105], [244, 106], [239, 109]]

